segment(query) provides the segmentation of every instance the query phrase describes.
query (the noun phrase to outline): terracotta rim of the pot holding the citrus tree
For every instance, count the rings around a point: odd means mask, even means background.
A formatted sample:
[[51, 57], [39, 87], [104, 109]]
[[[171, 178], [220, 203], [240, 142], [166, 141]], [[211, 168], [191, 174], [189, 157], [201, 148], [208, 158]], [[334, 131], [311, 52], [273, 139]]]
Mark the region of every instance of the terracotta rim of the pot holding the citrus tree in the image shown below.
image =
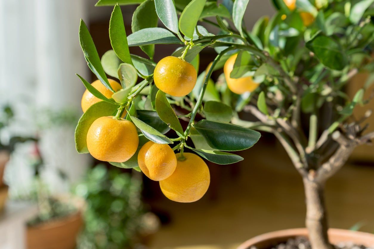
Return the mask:
[[[366, 247], [374, 246], [374, 234], [371, 233], [330, 228], [328, 230], [328, 235], [332, 244], [338, 244], [340, 242], [353, 242], [357, 245], [364, 245]], [[308, 237], [307, 229], [294, 228], [261, 234], [247, 240], [240, 245], [238, 249], [249, 249], [251, 246], [256, 246], [258, 249], [268, 249], [272, 248], [272, 246], [284, 243], [288, 239], [298, 236]]]

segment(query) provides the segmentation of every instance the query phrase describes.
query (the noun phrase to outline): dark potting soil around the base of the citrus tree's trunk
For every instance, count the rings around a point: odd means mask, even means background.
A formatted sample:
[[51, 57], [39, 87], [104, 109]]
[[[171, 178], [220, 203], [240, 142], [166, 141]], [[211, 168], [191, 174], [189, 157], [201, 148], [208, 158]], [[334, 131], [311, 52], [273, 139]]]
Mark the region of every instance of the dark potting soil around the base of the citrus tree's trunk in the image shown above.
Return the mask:
[[[258, 249], [255, 246], [252, 246], [249, 249]], [[312, 249], [310, 246], [310, 242], [306, 237], [296, 237], [294, 239], [289, 239], [287, 242], [273, 246], [272, 248], [268, 249]], [[367, 248], [366, 246], [354, 245], [351, 243], [341, 243], [335, 245], [335, 249], [374, 249], [374, 248]]]

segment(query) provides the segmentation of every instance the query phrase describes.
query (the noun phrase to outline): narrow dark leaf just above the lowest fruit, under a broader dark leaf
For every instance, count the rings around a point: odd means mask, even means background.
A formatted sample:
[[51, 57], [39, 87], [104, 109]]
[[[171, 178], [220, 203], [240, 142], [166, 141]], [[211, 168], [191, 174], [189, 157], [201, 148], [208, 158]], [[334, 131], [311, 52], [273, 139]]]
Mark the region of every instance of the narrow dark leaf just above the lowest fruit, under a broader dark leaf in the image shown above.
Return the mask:
[[243, 160], [241, 156], [219, 150], [189, 149], [215, 164], [234, 164]]

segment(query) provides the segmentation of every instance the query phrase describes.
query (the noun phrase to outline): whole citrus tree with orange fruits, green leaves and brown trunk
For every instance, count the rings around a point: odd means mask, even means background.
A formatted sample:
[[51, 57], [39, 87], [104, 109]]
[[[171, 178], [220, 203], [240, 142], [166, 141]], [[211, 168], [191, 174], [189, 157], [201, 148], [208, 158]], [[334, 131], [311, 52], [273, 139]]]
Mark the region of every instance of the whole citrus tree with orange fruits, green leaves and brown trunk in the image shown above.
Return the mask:
[[[356, 146], [374, 137], [363, 135], [367, 126], [360, 125], [370, 112], [352, 116], [356, 105], [369, 101], [364, 92], [373, 76], [353, 99], [344, 93], [359, 71], [373, 72], [374, 0], [273, 0], [276, 14], [260, 18], [252, 30], [242, 20], [248, 2], [100, 0], [97, 6], [114, 5], [113, 50], [100, 59], [81, 21], [80, 44], [98, 80], [89, 84], [78, 75], [87, 90], [76, 128], [77, 151], [142, 171], [160, 182], [169, 199], [193, 202], [209, 186], [202, 158], [236, 163], [243, 158], [229, 152], [253, 146], [258, 131], [273, 133], [303, 178], [313, 249], [332, 248], [325, 182]], [[140, 4], [130, 35], [119, 4]], [[158, 27], [159, 20], [165, 27]], [[219, 31], [212, 34], [200, 24]], [[154, 62], [154, 44], [180, 48]], [[133, 46], [144, 56], [132, 55]], [[203, 49], [214, 49], [217, 56], [197, 74]], [[212, 72], [222, 68], [214, 82]], [[240, 112], [257, 121], [240, 119]]]

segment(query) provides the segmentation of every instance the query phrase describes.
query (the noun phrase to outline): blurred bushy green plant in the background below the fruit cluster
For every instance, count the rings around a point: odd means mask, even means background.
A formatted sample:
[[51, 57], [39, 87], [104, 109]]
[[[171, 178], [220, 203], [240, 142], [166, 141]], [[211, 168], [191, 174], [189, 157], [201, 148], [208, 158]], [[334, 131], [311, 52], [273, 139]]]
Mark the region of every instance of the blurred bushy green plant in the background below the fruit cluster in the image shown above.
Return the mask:
[[158, 218], [145, 211], [137, 176], [97, 165], [75, 188], [87, 203], [79, 249], [137, 248], [156, 232]]

